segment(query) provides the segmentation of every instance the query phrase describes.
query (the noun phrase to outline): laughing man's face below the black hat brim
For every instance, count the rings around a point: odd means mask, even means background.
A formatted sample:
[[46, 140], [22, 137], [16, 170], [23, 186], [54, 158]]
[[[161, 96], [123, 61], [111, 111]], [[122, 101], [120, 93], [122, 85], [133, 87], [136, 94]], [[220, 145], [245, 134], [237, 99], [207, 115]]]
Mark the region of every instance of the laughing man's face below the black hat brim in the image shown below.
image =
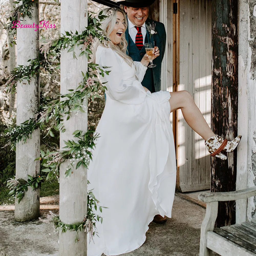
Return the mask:
[[141, 27], [148, 17], [148, 7], [135, 8], [124, 6], [128, 19], [134, 26]]

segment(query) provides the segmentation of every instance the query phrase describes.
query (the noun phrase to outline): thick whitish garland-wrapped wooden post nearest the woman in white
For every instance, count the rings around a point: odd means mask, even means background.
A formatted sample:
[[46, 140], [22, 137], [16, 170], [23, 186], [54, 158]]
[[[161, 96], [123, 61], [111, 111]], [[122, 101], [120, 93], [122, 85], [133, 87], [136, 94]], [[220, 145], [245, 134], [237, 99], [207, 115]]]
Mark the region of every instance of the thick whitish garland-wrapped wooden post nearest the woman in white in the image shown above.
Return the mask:
[[[74, 0], [61, 2], [61, 33], [65, 31], [78, 31], [81, 33], [87, 26], [87, 1]], [[81, 47], [80, 47], [81, 48]], [[75, 49], [77, 59], [67, 50], [61, 53], [60, 64], [60, 93], [68, 93], [70, 89], [76, 90], [79, 82], [83, 81], [82, 73], [87, 71], [87, 59], [78, 57], [78, 48]], [[73, 113], [68, 121], [64, 121], [66, 131], [60, 133], [60, 148], [65, 146], [64, 141], [74, 140], [73, 132], [87, 131], [87, 99], [84, 99], [84, 111]], [[64, 118], [66, 120], [66, 118]], [[65, 178], [67, 161], [60, 166], [60, 210], [59, 217], [64, 223], [82, 222], [87, 215], [87, 170], [82, 167], [73, 169], [71, 176]], [[76, 167], [76, 166], [74, 166]], [[79, 241], [75, 242], [76, 237]], [[86, 256], [87, 234], [82, 231], [67, 231], [59, 234], [59, 255]]]

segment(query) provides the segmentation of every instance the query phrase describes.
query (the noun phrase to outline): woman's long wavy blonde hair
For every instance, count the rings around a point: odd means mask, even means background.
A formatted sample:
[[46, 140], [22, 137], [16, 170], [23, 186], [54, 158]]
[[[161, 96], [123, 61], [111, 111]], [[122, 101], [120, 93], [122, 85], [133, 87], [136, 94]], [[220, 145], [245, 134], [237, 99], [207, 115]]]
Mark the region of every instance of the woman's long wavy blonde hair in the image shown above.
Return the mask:
[[[113, 31], [114, 27], [115, 27], [115, 23], [116, 23], [116, 14], [120, 12], [123, 14], [124, 16], [124, 26], [125, 29], [127, 29], [127, 19], [126, 19], [126, 15], [125, 13], [120, 10], [120, 9], [116, 9], [116, 8], [106, 8], [103, 9], [102, 11], [102, 15], [108, 16], [106, 17], [102, 22], [101, 22], [101, 29], [102, 34], [104, 37], [109, 38], [109, 35], [111, 34], [111, 32]], [[110, 39], [110, 38], [109, 38]], [[93, 44], [93, 55], [92, 55], [92, 61], [95, 63], [95, 57], [96, 57], [96, 50], [97, 47], [101, 45], [103, 47], [106, 48], [111, 48], [113, 51], [115, 51], [120, 57], [122, 57], [124, 59], [124, 61], [132, 66], [133, 65], [133, 60], [131, 57], [129, 57], [128, 55], [126, 55], [126, 49], [127, 49], [127, 41], [125, 39], [125, 33], [122, 34], [121, 37], [121, 42], [117, 45], [114, 45], [111, 41], [105, 40], [103, 39], [102, 42], [99, 41], [99, 39], [95, 39], [95, 42]]]

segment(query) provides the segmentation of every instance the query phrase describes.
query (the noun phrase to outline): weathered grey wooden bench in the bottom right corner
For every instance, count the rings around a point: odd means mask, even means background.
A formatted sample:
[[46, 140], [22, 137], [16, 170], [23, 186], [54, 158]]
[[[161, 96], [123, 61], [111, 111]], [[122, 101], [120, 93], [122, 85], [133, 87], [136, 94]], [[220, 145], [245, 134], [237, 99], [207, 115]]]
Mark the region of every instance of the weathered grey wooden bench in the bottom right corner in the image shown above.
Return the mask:
[[214, 228], [219, 201], [233, 201], [252, 196], [256, 196], [256, 186], [232, 192], [203, 192], [198, 196], [199, 200], [206, 202], [206, 214], [201, 225], [199, 256], [210, 256], [212, 251], [222, 256], [256, 255], [256, 219]]

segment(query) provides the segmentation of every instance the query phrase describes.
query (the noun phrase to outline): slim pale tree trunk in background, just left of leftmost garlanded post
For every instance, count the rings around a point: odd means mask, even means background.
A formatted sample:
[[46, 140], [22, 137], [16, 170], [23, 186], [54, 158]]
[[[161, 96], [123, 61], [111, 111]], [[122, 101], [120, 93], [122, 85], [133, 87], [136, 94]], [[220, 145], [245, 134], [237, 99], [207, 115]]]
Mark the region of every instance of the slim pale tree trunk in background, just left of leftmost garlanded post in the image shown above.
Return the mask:
[[[10, 6], [12, 7], [13, 0], [9, 0]], [[16, 5], [16, 4], [15, 4]], [[8, 41], [10, 42], [11, 38], [8, 36]], [[16, 45], [13, 45], [13, 47], [10, 47], [9, 44], [9, 71], [12, 71], [16, 67]], [[9, 95], [9, 117], [11, 116], [12, 112], [16, 112], [15, 108], [15, 101], [16, 101], [16, 94], [12, 93]]]

